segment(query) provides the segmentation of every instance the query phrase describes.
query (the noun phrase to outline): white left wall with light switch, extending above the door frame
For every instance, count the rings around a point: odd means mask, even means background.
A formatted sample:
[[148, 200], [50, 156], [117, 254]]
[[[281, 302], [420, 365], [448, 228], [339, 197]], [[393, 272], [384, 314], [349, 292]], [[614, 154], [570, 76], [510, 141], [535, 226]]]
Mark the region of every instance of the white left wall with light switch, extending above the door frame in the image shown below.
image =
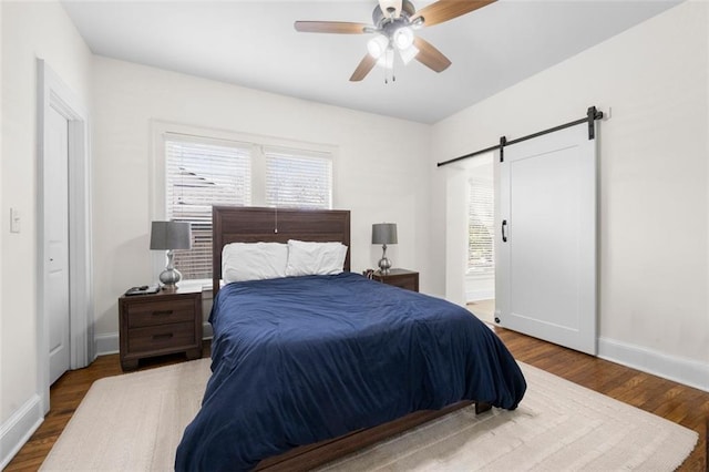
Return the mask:
[[[1, 20], [0, 464], [38, 420], [37, 58], [86, 105], [91, 82], [91, 52], [58, 2], [2, 2]], [[11, 207], [19, 234], [10, 233]]]

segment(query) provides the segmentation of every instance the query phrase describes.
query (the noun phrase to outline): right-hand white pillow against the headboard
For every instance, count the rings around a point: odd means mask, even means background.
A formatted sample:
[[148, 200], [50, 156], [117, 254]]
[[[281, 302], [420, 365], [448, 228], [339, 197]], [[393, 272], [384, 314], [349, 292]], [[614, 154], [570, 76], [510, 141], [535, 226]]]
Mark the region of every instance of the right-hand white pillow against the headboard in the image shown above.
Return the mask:
[[347, 246], [341, 243], [288, 240], [287, 276], [337, 275], [342, 271]]

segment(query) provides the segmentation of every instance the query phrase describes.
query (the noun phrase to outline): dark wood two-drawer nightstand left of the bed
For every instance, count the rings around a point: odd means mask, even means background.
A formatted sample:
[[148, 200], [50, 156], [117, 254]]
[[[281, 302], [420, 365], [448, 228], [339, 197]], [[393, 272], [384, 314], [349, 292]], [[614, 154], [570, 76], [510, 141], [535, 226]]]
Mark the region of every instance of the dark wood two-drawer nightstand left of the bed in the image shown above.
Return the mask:
[[161, 290], [152, 295], [122, 296], [121, 367], [137, 368], [140, 359], [185, 352], [202, 357], [202, 288]]

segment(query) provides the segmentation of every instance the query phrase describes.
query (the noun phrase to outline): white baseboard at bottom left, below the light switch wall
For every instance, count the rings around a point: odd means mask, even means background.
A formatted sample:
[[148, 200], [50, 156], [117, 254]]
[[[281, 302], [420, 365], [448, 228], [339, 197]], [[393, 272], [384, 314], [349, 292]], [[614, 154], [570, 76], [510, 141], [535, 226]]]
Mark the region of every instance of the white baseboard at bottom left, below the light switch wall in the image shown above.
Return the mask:
[[0, 470], [10, 463], [32, 433], [44, 421], [41, 401], [33, 394], [9, 419], [0, 425]]

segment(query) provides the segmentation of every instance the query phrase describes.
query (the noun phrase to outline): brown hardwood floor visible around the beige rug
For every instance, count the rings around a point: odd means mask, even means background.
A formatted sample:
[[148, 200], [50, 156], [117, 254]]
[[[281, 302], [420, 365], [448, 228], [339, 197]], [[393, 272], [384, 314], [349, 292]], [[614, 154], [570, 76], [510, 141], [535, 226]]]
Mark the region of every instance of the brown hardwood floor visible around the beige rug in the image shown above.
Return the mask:
[[[514, 331], [495, 328], [514, 357], [564, 379], [675, 421], [699, 433], [699, 442], [680, 471], [707, 471], [709, 393], [639, 372], [592, 356], [572, 351]], [[209, 356], [209, 346], [204, 355]], [[183, 356], [141, 361], [150, 369], [183, 361]], [[6, 471], [35, 471], [56, 441], [91, 384], [103, 377], [123, 373], [119, 356], [103, 356], [90, 367], [66, 372], [52, 386], [51, 410], [30, 441]], [[563, 464], [559, 465], [563, 469]]]

